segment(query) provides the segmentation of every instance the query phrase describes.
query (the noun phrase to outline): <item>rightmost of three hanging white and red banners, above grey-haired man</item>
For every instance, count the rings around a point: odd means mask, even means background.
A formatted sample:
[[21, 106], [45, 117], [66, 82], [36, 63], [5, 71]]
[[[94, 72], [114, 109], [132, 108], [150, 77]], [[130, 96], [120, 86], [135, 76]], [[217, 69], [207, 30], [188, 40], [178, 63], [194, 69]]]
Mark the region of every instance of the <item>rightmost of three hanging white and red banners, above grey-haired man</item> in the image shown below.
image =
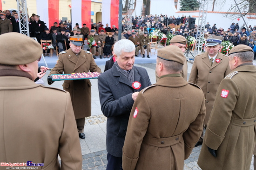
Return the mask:
[[119, 0], [102, 0], [102, 24], [118, 28]]

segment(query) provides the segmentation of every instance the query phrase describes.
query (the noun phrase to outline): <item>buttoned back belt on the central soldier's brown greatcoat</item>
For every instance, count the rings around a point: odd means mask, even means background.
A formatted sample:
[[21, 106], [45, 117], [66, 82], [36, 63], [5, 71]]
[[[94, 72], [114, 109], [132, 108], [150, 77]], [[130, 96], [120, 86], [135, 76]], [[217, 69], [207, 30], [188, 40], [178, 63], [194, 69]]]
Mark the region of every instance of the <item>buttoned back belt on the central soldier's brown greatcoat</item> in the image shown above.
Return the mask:
[[168, 138], [153, 138], [150, 137], [149, 145], [156, 147], [167, 147], [179, 143], [182, 139], [182, 134], [168, 137]]

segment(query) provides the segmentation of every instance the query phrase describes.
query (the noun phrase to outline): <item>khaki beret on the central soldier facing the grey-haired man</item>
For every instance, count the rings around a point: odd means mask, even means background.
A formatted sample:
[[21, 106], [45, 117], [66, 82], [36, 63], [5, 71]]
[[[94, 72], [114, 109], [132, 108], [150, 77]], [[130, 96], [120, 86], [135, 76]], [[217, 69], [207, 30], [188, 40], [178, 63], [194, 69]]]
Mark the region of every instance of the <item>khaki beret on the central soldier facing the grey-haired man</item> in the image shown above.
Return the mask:
[[185, 63], [185, 57], [182, 50], [175, 45], [168, 45], [158, 50], [157, 57], [167, 61], [174, 61], [181, 64]]

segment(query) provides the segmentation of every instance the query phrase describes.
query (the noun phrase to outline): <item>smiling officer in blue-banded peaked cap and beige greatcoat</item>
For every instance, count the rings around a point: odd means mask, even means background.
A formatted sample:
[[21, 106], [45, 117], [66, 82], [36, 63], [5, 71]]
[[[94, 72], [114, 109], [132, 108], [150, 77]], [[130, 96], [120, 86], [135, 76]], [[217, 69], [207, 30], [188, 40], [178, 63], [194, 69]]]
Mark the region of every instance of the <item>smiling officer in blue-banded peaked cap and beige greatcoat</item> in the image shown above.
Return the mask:
[[[205, 97], [206, 116], [204, 125], [207, 126], [213, 108], [215, 94], [222, 79], [230, 72], [229, 58], [219, 52], [223, 37], [208, 37], [207, 52], [195, 57], [189, 82], [202, 88]], [[203, 133], [195, 146], [202, 145]]]

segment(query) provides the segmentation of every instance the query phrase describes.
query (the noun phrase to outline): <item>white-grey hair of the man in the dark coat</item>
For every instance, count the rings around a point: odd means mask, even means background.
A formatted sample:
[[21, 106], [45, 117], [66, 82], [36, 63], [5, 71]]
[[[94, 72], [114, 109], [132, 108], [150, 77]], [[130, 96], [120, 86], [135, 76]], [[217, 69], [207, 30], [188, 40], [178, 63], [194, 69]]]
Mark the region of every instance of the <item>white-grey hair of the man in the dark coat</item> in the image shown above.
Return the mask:
[[121, 56], [122, 52], [132, 52], [135, 50], [135, 45], [128, 39], [121, 39], [114, 45], [114, 52], [117, 57]]

